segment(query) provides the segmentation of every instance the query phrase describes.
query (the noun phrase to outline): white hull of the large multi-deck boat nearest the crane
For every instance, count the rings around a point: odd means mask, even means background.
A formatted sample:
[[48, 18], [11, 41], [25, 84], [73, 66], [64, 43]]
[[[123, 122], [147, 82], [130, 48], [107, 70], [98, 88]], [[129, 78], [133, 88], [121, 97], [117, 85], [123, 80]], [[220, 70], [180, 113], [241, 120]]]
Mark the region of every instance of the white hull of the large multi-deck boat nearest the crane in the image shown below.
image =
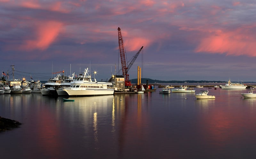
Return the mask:
[[88, 89], [88, 90], [71, 90], [64, 89], [69, 96], [100, 96], [100, 95], [112, 95], [114, 89]]

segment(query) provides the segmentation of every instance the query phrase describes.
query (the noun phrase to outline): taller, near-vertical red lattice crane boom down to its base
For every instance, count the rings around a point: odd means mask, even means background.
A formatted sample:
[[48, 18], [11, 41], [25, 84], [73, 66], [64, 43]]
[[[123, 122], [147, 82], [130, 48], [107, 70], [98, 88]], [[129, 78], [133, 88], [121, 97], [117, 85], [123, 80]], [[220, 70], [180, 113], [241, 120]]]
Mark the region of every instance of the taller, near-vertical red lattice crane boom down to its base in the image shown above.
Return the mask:
[[120, 58], [121, 58], [123, 76], [124, 76], [124, 86], [131, 86], [131, 81], [129, 81], [129, 75], [127, 70], [128, 68], [126, 66], [126, 61], [125, 61], [124, 41], [123, 41], [121, 29], [118, 27], [117, 30], [118, 30], [118, 44], [119, 44]]

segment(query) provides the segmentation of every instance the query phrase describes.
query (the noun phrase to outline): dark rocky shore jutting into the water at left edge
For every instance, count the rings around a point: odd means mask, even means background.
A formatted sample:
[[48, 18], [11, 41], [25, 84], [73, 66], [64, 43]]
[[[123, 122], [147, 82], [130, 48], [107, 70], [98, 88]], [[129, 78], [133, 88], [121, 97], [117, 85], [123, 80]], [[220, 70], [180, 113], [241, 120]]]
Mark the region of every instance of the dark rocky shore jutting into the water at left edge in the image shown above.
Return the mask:
[[0, 133], [5, 130], [12, 130], [12, 128], [20, 127], [21, 123], [16, 120], [2, 118], [0, 116]]

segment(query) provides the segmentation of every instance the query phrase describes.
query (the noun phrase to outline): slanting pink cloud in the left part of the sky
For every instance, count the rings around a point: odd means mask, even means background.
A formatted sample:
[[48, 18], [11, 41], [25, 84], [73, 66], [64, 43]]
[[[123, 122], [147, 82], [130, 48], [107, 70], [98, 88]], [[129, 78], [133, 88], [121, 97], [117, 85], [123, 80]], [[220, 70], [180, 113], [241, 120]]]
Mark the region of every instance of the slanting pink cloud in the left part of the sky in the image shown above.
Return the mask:
[[40, 23], [36, 31], [35, 40], [27, 40], [21, 49], [25, 50], [45, 50], [47, 49], [59, 35], [63, 24], [57, 21], [48, 21], [45, 23]]

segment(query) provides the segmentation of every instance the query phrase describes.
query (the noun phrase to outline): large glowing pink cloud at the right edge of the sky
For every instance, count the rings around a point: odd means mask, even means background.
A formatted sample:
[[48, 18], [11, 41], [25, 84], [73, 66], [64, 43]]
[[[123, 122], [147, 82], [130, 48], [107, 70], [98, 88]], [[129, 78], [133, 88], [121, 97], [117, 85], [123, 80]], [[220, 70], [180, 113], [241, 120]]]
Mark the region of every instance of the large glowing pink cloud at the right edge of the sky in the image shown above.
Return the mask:
[[251, 33], [250, 28], [244, 27], [235, 31], [217, 30], [209, 36], [202, 38], [195, 51], [225, 53], [236, 56], [256, 56], [256, 38]]

